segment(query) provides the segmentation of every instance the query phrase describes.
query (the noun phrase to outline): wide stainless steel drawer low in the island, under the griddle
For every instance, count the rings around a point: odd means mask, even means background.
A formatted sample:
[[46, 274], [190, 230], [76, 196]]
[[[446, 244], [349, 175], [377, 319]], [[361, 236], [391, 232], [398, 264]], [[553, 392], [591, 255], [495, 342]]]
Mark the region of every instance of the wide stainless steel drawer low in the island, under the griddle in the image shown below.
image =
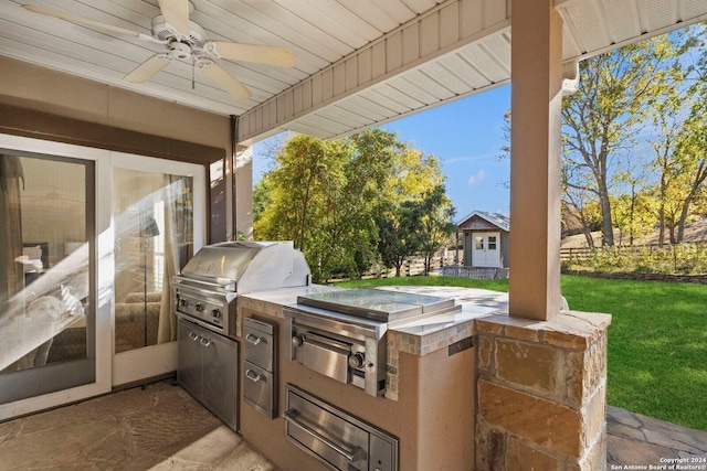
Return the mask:
[[287, 438], [334, 470], [398, 470], [398, 439], [293, 385], [283, 417]]

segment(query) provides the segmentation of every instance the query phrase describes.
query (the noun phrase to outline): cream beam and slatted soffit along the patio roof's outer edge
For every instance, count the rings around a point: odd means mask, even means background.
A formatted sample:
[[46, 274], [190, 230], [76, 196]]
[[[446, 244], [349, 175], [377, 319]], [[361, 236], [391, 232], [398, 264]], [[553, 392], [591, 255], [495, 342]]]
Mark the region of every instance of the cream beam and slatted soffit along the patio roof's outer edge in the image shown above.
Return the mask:
[[[567, 87], [578, 62], [707, 19], [707, 3], [558, 0]], [[321, 139], [510, 83], [511, 1], [449, 0], [240, 117], [239, 141], [292, 130]]]

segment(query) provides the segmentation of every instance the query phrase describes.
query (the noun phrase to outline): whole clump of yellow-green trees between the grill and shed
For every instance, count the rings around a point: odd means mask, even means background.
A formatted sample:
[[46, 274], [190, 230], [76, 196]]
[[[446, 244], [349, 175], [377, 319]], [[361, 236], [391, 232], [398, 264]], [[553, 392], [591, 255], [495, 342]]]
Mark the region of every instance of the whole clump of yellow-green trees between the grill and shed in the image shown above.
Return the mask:
[[255, 188], [254, 233], [294, 240], [315, 281], [360, 276], [379, 253], [400, 270], [422, 237], [439, 248], [437, 220], [453, 214], [443, 183], [434, 156], [383, 129], [329, 141], [293, 136]]

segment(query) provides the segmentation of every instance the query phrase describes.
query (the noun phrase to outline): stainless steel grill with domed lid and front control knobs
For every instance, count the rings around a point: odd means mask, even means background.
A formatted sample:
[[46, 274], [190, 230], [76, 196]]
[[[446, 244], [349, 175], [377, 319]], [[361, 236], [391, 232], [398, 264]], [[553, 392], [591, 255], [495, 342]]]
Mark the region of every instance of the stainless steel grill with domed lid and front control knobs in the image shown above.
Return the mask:
[[239, 295], [309, 285], [309, 266], [292, 242], [225, 242], [204, 246], [172, 278], [175, 312], [235, 336]]

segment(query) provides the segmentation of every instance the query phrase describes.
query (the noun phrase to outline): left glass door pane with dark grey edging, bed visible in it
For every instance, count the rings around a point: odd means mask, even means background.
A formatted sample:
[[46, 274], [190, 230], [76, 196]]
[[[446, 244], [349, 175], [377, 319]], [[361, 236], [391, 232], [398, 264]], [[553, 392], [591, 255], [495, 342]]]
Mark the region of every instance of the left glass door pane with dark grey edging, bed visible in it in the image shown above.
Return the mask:
[[93, 383], [94, 162], [0, 151], [0, 404]]

